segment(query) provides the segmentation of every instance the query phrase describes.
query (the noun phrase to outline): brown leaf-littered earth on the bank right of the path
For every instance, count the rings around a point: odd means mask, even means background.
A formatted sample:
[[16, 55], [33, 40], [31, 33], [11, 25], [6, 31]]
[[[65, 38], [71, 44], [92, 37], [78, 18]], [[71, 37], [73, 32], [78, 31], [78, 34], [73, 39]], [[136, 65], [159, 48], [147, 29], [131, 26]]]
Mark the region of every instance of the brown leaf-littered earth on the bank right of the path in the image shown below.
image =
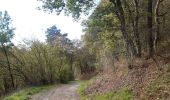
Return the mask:
[[119, 88], [128, 86], [134, 91], [134, 99], [142, 100], [145, 88], [163, 73], [163, 67], [170, 62], [170, 56], [165, 59], [135, 59], [133, 68], [128, 69], [124, 62], [115, 63], [114, 72], [101, 72], [85, 89], [84, 95], [103, 94], [108, 91], [115, 92]]

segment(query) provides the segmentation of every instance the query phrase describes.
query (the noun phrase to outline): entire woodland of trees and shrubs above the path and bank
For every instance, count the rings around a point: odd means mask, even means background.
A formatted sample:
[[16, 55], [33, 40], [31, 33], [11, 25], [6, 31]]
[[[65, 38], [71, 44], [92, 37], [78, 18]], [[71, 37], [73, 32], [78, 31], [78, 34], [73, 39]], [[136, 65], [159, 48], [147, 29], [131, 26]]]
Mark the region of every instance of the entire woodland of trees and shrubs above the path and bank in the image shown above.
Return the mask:
[[94, 11], [82, 22], [82, 41], [68, 39], [54, 25], [46, 30], [45, 43], [32, 40], [17, 46], [11, 42], [15, 28], [10, 15], [0, 12], [0, 96], [25, 86], [114, 71], [114, 62], [120, 59], [130, 70], [135, 58], [155, 59], [170, 50], [169, 0], [39, 1], [40, 10], [64, 11], [76, 21]]

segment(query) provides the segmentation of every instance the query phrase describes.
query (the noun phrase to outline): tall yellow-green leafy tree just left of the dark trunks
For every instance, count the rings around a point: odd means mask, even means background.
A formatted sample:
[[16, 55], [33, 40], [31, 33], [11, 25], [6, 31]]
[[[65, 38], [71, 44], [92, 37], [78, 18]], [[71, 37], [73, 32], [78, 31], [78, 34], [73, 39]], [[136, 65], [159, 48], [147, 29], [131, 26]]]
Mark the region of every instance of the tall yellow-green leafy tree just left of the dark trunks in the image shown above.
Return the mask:
[[99, 70], [113, 66], [115, 57], [124, 52], [122, 34], [117, 28], [119, 24], [112, 3], [106, 0], [101, 0], [89, 19], [82, 23], [84, 47], [95, 56]]

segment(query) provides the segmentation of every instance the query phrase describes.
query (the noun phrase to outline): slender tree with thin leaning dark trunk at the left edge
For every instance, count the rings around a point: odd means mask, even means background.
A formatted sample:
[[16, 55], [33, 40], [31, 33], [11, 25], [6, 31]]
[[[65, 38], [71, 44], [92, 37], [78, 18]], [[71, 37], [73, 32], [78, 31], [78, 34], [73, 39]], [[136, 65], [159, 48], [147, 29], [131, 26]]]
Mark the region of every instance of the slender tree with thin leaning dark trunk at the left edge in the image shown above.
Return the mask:
[[6, 64], [7, 64], [7, 69], [8, 69], [8, 73], [11, 79], [11, 85], [12, 88], [15, 87], [15, 83], [14, 83], [14, 76], [12, 73], [12, 68], [11, 68], [11, 64], [9, 61], [9, 49], [13, 46], [11, 39], [13, 38], [13, 31], [14, 28], [11, 26], [11, 18], [8, 15], [8, 12], [5, 11], [0, 12], [0, 43], [1, 43], [1, 50], [3, 52], [3, 54], [6, 57]]

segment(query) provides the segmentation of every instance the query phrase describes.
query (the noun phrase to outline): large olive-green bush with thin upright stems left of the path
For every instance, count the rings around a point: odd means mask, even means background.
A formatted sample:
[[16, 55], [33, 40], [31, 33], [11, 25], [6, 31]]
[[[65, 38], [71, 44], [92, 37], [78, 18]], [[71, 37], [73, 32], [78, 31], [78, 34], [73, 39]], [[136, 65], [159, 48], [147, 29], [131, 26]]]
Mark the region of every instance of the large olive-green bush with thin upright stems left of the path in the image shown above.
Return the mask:
[[[49, 84], [53, 82], [67, 82], [70, 77], [70, 63], [67, 55], [59, 45], [49, 46], [35, 41], [30, 50], [19, 54], [15, 50], [19, 61], [22, 62], [22, 70], [31, 84]], [[21, 67], [21, 66], [20, 66]], [[20, 73], [21, 74], [21, 73]]]

